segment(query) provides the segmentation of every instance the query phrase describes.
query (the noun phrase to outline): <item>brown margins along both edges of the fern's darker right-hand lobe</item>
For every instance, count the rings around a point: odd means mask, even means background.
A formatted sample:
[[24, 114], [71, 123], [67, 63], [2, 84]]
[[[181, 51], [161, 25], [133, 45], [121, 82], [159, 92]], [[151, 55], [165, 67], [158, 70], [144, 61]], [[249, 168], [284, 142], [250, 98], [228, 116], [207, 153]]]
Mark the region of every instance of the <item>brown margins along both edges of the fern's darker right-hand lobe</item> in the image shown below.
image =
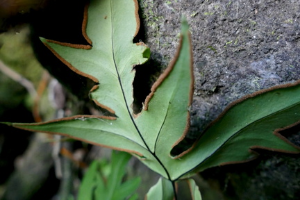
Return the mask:
[[[263, 89], [263, 90], [259, 90], [257, 92], [253, 92], [252, 94], [248, 94], [236, 101], [233, 101], [232, 103], [230, 103], [228, 106], [226, 106], [226, 108], [224, 109], [224, 111], [217, 117], [217, 119], [215, 119], [213, 122], [211, 122], [206, 129], [203, 131], [203, 133], [201, 135], [203, 135], [206, 130], [208, 130], [208, 128], [210, 128], [210, 126], [213, 126], [215, 123], [217, 123], [220, 119], [222, 119], [222, 117], [224, 117], [224, 115], [226, 115], [226, 113], [228, 113], [229, 110], [231, 110], [231, 108], [233, 108], [233, 106], [238, 105], [239, 103], [242, 103], [243, 101], [246, 101], [247, 99], [251, 99], [253, 97], [257, 97], [260, 94], [263, 94], [265, 92], [270, 92], [272, 90], [278, 90], [278, 89], [284, 89], [284, 88], [291, 88], [291, 87], [295, 87], [297, 85], [300, 85], [300, 80], [295, 81], [294, 83], [286, 83], [283, 85], [275, 85], [272, 88], [267, 88], [267, 89]], [[254, 154], [255, 158], [250, 158], [249, 160], [241, 160], [241, 161], [233, 161], [233, 162], [226, 162], [226, 163], [221, 163], [220, 166], [222, 165], [229, 165], [229, 164], [238, 164], [238, 163], [246, 163], [249, 162], [251, 160], [254, 160], [257, 158], [257, 156], [259, 156], [259, 153], [257, 153], [255, 151], [255, 149], [264, 149], [264, 150], [268, 150], [268, 151], [276, 151], [276, 152], [281, 152], [281, 153], [292, 153], [292, 154], [297, 154], [300, 153], [300, 147], [297, 146], [296, 144], [293, 144], [292, 142], [290, 142], [290, 140], [288, 140], [287, 138], [285, 138], [283, 135], [281, 135], [281, 131], [287, 130], [288, 128], [292, 128], [293, 126], [297, 126], [298, 124], [300, 124], [299, 122], [296, 122], [294, 124], [290, 124], [289, 126], [285, 126], [283, 128], [277, 128], [273, 131], [273, 134], [276, 135], [278, 138], [280, 138], [281, 140], [283, 140], [284, 142], [290, 144], [292, 147], [294, 147], [295, 149], [299, 149], [299, 152], [294, 152], [294, 151], [284, 151], [281, 149], [272, 149], [272, 148], [267, 148], [267, 147], [260, 147], [260, 146], [251, 146], [249, 147], [249, 151], [250, 153]], [[179, 155], [177, 155], [174, 158], [181, 158], [183, 157], [185, 154], [189, 153], [190, 151], [192, 151], [192, 149], [194, 149], [194, 147], [197, 146], [197, 144], [199, 143], [199, 140], [201, 139], [201, 135], [199, 136], [199, 138], [196, 140], [196, 142], [194, 142], [194, 144], [192, 145], [192, 147], [190, 147], [189, 149], [183, 151], [182, 153], [180, 153]]]

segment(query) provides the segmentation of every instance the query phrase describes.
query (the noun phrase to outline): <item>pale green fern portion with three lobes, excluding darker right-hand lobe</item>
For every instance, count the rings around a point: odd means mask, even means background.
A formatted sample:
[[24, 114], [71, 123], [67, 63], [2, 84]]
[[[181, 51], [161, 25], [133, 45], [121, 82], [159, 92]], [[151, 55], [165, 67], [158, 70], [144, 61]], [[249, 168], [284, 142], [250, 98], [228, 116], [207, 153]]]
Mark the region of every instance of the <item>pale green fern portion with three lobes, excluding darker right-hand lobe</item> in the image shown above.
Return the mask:
[[136, 1], [91, 1], [83, 35], [92, 47], [41, 39], [74, 72], [99, 81], [90, 97], [117, 117], [78, 115], [13, 126], [133, 153], [170, 179], [169, 152], [190, 126], [194, 76], [188, 22], [183, 21], [176, 56], [151, 88], [142, 113], [133, 115], [133, 67], [146, 62], [144, 56], [149, 56], [144, 43], [132, 42], [139, 28], [137, 5]]

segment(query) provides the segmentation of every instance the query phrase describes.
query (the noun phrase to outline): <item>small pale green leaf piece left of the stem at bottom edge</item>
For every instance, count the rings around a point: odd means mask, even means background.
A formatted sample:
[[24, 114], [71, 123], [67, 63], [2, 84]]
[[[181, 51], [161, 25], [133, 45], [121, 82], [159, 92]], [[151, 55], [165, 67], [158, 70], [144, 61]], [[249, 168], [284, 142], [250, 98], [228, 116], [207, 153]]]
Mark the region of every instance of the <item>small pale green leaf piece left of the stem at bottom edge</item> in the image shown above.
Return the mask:
[[153, 185], [146, 195], [148, 200], [173, 200], [174, 190], [172, 182], [165, 178], [160, 178], [156, 185]]

